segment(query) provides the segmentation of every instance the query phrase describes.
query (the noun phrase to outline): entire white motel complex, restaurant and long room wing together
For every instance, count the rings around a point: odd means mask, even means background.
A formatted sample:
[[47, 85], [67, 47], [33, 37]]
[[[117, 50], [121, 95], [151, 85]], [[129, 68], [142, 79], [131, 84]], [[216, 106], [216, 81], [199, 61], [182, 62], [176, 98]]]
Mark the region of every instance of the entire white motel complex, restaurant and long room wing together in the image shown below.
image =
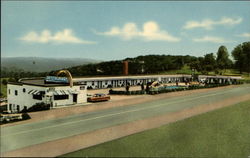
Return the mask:
[[[68, 78], [65, 82], [45, 82], [46, 78], [20, 79], [16, 83], [7, 84], [8, 111], [19, 112], [28, 109], [36, 103], [49, 104], [51, 108], [87, 102], [87, 89], [104, 89], [136, 86], [148, 82], [175, 83], [191, 81], [191, 75], [148, 75], [148, 76], [113, 76], [95, 78], [72, 78], [66, 70]], [[60, 72], [59, 72], [60, 73]], [[52, 77], [53, 78], [53, 77]], [[234, 84], [241, 77], [236, 76], [204, 76], [199, 81], [207, 83]]]

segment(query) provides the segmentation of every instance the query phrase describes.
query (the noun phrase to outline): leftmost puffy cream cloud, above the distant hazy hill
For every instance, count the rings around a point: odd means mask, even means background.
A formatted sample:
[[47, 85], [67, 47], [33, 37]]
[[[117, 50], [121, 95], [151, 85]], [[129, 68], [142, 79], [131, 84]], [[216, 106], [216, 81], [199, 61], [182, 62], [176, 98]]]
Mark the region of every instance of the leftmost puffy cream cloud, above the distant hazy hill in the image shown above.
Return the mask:
[[50, 30], [43, 30], [40, 34], [31, 31], [19, 38], [25, 42], [33, 42], [33, 43], [78, 43], [78, 44], [94, 44], [95, 42], [86, 41], [80, 39], [74, 35], [73, 30], [64, 29], [62, 31], [58, 31], [55, 34], [52, 34]]

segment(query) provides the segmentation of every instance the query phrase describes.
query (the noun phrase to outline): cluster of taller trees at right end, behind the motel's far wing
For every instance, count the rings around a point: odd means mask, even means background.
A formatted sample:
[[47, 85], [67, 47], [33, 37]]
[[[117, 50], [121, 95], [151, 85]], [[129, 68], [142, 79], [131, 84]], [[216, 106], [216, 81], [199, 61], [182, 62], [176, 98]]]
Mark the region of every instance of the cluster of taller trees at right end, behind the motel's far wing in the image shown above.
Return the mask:
[[220, 46], [216, 57], [214, 53], [198, 57], [190, 63], [190, 67], [202, 74], [214, 71], [216, 74], [223, 74], [225, 69], [239, 70], [240, 73], [250, 73], [250, 42], [239, 44], [231, 52], [234, 62], [229, 58], [228, 50], [225, 46]]

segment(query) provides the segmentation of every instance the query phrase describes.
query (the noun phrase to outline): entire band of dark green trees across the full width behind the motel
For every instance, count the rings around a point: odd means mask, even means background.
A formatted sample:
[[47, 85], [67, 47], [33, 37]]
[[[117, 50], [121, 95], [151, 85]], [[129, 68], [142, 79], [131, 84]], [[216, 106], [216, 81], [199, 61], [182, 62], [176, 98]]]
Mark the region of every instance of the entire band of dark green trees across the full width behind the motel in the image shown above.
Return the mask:
[[[234, 61], [230, 59], [230, 54]], [[129, 74], [156, 74], [169, 70], [179, 70], [184, 65], [190, 69], [208, 74], [214, 71], [216, 74], [223, 74], [226, 69], [236, 69], [240, 73], [250, 73], [250, 42], [244, 42], [236, 46], [231, 53], [225, 46], [220, 46], [215, 53], [205, 54], [203, 57], [195, 56], [174, 56], [174, 55], [145, 55], [136, 58], [126, 58], [129, 62]], [[115, 60], [97, 64], [87, 64], [67, 68], [73, 76], [108, 76], [122, 75], [123, 61]], [[22, 69], [1, 68], [2, 78], [19, 79], [23, 77], [44, 77], [54, 75], [51, 72], [27, 72]]]

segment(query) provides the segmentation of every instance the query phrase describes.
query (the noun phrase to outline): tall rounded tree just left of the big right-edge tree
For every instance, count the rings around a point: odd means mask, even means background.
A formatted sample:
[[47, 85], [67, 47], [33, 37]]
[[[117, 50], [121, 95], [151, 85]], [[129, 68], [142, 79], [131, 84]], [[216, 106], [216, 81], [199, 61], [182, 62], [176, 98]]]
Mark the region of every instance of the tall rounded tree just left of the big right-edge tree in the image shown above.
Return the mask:
[[232, 61], [228, 58], [228, 51], [225, 46], [220, 46], [217, 52], [216, 63], [220, 70], [230, 68]]

